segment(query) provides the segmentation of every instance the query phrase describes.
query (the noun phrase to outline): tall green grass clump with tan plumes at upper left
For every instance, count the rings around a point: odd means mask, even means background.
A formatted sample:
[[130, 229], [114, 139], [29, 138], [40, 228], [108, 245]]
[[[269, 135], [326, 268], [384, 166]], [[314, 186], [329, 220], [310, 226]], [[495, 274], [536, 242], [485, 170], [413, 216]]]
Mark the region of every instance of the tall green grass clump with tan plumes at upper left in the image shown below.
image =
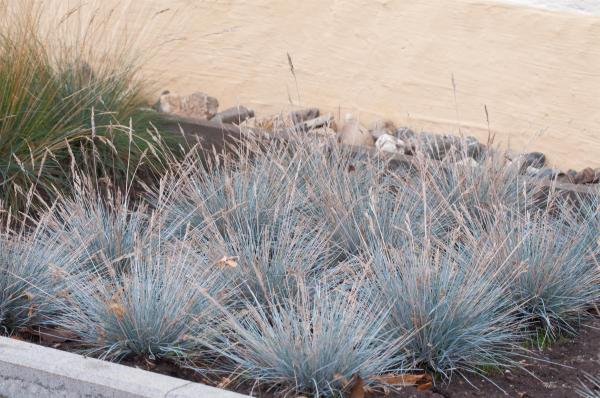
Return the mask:
[[[138, 60], [48, 36], [41, 6], [0, 3], [0, 200], [22, 211], [69, 188], [72, 165], [123, 184], [160, 166]], [[91, 28], [90, 28], [91, 29]]]

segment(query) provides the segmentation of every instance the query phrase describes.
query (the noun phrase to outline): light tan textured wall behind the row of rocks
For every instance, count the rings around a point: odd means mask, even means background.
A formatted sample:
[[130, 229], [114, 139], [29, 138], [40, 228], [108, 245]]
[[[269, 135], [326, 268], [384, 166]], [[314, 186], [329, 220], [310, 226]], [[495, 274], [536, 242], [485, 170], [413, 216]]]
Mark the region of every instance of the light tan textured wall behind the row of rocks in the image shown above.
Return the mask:
[[130, 6], [183, 10], [161, 29], [185, 40], [162, 46], [147, 68], [172, 91], [205, 91], [222, 108], [261, 114], [288, 108], [291, 97], [354, 110], [367, 124], [386, 117], [456, 133], [460, 125], [484, 140], [487, 106], [497, 142], [546, 152], [563, 168], [600, 167], [600, 17], [477, 0]]

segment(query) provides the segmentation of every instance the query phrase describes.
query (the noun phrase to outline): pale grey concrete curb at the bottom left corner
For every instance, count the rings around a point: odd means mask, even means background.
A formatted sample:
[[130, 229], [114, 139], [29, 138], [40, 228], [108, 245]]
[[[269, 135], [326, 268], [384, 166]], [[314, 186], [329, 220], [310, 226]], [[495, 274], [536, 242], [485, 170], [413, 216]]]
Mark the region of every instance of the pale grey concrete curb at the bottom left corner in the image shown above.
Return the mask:
[[244, 398], [247, 396], [0, 337], [0, 397]]

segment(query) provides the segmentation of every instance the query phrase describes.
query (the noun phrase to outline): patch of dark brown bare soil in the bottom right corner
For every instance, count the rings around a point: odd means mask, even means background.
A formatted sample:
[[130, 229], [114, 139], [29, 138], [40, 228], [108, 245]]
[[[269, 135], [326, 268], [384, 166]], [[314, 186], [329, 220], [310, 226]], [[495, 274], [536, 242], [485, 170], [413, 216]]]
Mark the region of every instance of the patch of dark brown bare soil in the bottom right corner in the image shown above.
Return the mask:
[[525, 367], [539, 380], [525, 371], [489, 376], [505, 393], [481, 377], [469, 378], [473, 385], [455, 377], [448, 385], [437, 385], [424, 392], [406, 388], [393, 398], [576, 398], [576, 389], [581, 387], [580, 380], [585, 380], [586, 372], [600, 376], [600, 320], [585, 324], [579, 336], [562, 339], [538, 355], [548, 362], [528, 360]]

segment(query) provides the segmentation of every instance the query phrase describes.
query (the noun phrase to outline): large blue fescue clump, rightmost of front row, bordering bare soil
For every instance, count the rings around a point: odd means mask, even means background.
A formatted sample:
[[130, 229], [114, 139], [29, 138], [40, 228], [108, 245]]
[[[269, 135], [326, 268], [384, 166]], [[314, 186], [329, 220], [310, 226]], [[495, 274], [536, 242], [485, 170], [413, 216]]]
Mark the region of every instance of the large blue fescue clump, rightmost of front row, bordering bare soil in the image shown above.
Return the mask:
[[479, 373], [484, 366], [515, 366], [524, 339], [518, 308], [507, 286], [498, 283], [493, 256], [463, 251], [450, 240], [443, 246], [411, 244], [368, 259], [374, 283], [388, 300], [388, 328], [412, 333], [405, 349], [444, 379]]

